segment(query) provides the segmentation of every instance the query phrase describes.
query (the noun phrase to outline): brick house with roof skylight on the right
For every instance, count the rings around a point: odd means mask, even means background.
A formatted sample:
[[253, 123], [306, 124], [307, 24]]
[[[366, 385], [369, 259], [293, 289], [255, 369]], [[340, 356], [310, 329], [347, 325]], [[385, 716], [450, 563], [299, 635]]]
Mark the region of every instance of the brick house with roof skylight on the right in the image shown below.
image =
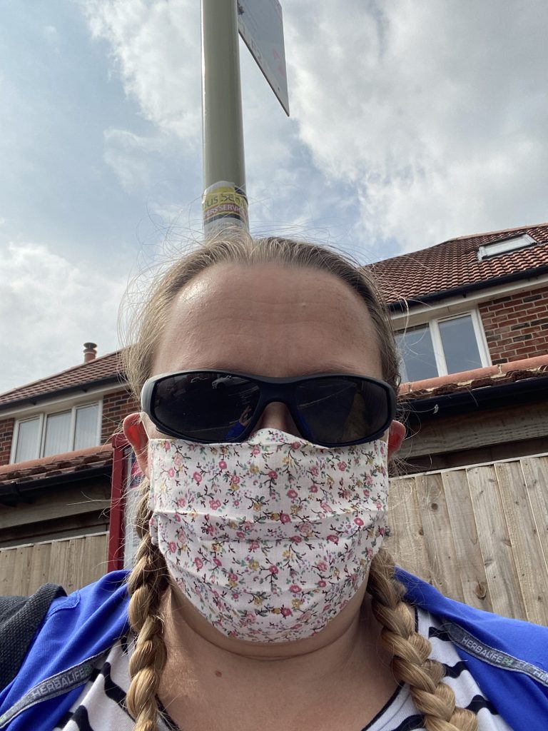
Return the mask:
[[548, 452], [548, 224], [370, 265], [402, 355], [403, 469]]

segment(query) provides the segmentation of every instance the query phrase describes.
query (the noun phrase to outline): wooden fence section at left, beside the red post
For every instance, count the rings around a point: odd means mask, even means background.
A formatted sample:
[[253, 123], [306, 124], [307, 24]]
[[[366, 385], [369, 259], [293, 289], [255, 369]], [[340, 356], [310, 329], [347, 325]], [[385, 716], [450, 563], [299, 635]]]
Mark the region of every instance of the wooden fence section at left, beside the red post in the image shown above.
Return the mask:
[[0, 550], [0, 596], [28, 596], [51, 581], [69, 594], [107, 570], [107, 533]]

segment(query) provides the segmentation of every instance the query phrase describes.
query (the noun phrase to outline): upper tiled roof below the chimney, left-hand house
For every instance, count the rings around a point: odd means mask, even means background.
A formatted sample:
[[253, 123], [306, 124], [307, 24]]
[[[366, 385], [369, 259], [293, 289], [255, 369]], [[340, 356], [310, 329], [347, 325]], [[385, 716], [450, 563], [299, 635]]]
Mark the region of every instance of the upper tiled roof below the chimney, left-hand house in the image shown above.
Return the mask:
[[66, 371], [47, 376], [39, 381], [34, 381], [26, 386], [14, 388], [11, 391], [0, 394], [0, 408], [18, 401], [33, 401], [34, 398], [45, 396], [48, 393], [64, 390], [71, 387], [85, 386], [96, 381], [108, 379], [120, 379], [118, 370], [121, 368], [120, 351], [103, 355], [102, 357], [90, 360], [89, 363], [80, 363]]

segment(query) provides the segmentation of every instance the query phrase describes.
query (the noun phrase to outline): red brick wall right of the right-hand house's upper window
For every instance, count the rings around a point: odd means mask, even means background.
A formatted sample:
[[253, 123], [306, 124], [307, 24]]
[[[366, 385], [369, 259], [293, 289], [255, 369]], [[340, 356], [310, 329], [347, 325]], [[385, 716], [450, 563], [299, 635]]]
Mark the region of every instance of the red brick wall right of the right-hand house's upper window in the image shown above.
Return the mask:
[[479, 314], [492, 363], [548, 353], [548, 287], [484, 302]]

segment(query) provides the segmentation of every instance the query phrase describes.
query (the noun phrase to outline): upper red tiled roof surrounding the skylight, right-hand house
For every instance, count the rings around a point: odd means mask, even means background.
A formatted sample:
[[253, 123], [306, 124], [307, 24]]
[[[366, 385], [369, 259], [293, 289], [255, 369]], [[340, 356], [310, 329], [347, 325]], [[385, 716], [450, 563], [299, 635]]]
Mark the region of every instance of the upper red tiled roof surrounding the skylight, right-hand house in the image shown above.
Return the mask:
[[[536, 244], [479, 262], [479, 246], [528, 234]], [[461, 236], [429, 249], [402, 254], [368, 265], [389, 303], [416, 299], [499, 279], [517, 272], [548, 267], [548, 224]]]

